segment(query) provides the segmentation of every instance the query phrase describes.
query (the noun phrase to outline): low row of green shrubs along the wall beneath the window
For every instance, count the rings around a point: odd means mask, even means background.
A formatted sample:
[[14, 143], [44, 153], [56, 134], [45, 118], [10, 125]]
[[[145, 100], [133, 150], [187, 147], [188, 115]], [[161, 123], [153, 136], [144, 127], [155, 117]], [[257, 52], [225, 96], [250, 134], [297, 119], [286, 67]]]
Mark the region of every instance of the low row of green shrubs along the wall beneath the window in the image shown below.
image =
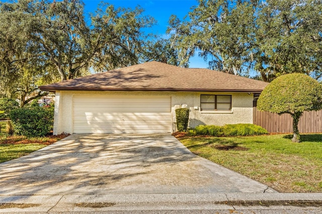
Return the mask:
[[227, 124], [224, 126], [214, 125], [200, 125], [195, 129], [189, 130], [189, 135], [209, 135], [215, 137], [230, 137], [230, 136], [251, 136], [251, 135], [264, 135], [268, 132], [254, 124]]

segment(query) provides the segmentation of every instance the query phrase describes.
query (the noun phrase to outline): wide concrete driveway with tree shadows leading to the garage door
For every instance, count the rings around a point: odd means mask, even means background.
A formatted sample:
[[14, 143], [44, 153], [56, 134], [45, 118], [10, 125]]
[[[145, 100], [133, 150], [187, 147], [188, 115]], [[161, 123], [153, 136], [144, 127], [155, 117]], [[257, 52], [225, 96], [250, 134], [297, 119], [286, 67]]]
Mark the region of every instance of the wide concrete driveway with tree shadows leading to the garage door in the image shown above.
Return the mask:
[[169, 134], [73, 134], [0, 164], [0, 195], [275, 192]]

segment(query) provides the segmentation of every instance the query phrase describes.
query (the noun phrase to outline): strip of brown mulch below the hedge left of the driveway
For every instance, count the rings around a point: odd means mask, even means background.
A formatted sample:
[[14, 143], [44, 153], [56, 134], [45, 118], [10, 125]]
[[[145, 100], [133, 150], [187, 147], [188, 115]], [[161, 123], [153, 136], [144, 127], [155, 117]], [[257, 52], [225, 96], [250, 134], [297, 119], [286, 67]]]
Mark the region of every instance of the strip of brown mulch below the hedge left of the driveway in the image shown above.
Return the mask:
[[35, 139], [27, 139], [24, 136], [9, 136], [4, 140], [0, 140], [0, 144], [43, 144], [43, 145], [50, 145], [53, 144], [65, 137], [69, 136], [69, 134], [62, 133], [60, 135], [52, 135], [48, 134], [46, 136], [46, 139], [41, 140], [39, 138], [38, 140]]

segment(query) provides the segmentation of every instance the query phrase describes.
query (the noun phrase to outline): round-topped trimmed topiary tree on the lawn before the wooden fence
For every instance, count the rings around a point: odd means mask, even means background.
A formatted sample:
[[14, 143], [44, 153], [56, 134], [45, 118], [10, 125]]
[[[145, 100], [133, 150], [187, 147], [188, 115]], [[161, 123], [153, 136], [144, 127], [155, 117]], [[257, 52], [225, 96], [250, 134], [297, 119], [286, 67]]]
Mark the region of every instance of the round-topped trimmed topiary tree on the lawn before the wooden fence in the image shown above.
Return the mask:
[[292, 73], [273, 80], [257, 101], [260, 111], [290, 114], [293, 118], [293, 142], [300, 142], [298, 122], [304, 111], [322, 109], [322, 84], [308, 75]]

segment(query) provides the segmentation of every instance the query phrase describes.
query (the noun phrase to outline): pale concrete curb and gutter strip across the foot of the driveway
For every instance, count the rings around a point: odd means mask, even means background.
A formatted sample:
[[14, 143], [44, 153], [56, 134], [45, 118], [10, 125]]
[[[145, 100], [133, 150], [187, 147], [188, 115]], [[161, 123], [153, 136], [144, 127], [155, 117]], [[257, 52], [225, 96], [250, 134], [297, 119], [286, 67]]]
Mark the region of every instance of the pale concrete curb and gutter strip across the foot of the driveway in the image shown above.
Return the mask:
[[[257, 210], [260, 213], [320, 213], [322, 193], [185, 193], [185, 194], [70, 194], [0, 195], [0, 212], [128, 212]], [[280, 211], [278, 211], [280, 210]], [[286, 212], [289, 210], [289, 212]], [[138, 212], [140, 211], [140, 212]], [[229, 213], [227, 212], [227, 213]], [[200, 212], [198, 212], [200, 213]], [[251, 212], [250, 212], [251, 213]], [[257, 212], [255, 212], [257, 213]]]

